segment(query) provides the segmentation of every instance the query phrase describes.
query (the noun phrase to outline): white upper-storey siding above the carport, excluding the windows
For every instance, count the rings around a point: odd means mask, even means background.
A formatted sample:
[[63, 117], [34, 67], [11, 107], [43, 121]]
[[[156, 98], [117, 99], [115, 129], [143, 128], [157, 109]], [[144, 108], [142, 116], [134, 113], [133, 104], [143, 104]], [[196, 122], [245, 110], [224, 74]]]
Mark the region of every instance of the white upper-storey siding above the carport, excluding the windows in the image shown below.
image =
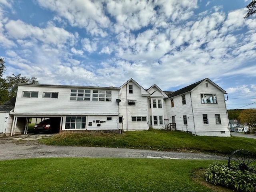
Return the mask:
[[[76, 88], [24, 86], [18, 88], [14, 113], [16, 114], [118, 114], [118, 90], [112, 90], [111, 102], [70, 100], [70, 90]], [[106, 89], [109, 90], [109, 89]], [[36, 91], [38, 98], [23, 98], [23, 91]], [[58, 98], [43, 98], [43, 92], [58, 92]]]

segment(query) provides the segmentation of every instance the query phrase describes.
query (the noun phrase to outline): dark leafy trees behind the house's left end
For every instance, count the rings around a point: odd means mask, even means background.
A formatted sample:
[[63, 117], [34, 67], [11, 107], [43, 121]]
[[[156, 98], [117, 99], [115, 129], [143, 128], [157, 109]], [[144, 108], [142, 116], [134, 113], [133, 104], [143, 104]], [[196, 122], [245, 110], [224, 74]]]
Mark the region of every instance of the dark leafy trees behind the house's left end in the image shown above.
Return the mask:
[[6, 79], [2, 78], [6, 66], [4, 65], [4, 58], [0, 57], [0, 105], [14, 97], [18, 90], [19, 83], [30, 83], [38, 84], [38, 80], [35, 77], [11, 77], [8, 76]]

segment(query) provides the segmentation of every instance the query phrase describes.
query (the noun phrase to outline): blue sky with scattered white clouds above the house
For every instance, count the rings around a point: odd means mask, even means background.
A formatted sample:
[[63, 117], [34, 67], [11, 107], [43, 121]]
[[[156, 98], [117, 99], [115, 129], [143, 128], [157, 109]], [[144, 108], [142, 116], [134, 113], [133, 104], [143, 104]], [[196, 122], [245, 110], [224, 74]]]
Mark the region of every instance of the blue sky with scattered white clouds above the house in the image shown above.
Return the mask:
[[4, 75], [117, 87], [133, 78], [162, 90], [210, 78], [228, 92], [228, 109], [256, 108], [249, 2], [0, 0]]

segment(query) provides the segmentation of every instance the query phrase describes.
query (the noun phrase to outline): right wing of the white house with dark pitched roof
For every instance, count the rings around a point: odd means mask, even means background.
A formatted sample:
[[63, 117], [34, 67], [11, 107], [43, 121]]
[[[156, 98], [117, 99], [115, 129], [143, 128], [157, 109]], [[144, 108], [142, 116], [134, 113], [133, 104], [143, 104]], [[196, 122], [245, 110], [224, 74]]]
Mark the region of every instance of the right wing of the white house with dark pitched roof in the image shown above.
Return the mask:
[[230, 136], [224, 91], [206, 78], [166, 99], [167, 117], [176, 129], [199, 136]]

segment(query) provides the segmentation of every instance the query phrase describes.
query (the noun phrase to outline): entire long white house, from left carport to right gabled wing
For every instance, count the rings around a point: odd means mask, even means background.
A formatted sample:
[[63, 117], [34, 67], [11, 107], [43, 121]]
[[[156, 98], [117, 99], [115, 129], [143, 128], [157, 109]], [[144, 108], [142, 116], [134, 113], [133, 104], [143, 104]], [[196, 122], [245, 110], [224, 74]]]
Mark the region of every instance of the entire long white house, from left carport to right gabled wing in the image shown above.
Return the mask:
[[230, 136], [224, 94], [208, 78], [175, 92], [156, 84], [144, 89], [132, 78], [120, 87], [19, 84], [12, 105], [0, 107], [0, 131], [26, 134], [30, 119], [59, 118], [61, 131], [122, 132], [171, 125], [198, 136]]

